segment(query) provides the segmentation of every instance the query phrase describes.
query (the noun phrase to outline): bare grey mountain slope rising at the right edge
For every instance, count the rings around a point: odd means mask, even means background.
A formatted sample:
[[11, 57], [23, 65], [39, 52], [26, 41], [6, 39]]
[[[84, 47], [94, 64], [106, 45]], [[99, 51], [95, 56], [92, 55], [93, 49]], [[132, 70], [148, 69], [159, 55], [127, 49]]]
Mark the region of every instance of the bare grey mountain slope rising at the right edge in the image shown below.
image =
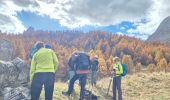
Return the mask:
[[165, 18], [157, 28], [157, 30], [148, 38], [149, 42], [170, 42], [170, 16]]

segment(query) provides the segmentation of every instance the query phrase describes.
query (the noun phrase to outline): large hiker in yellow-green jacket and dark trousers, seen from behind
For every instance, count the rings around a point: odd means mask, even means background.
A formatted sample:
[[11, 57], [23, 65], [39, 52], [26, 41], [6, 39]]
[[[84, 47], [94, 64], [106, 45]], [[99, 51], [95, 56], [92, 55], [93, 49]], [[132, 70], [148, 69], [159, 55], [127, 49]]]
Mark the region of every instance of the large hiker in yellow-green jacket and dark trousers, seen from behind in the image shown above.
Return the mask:
[[45, 100], [52, 100], [58, 58], [52, 49], [44, 48], [42, 42], [38, 42], [36, 48], [38, 51], [32, 58], [30, 68], [31, 100], [39, 100], [43, 85]]

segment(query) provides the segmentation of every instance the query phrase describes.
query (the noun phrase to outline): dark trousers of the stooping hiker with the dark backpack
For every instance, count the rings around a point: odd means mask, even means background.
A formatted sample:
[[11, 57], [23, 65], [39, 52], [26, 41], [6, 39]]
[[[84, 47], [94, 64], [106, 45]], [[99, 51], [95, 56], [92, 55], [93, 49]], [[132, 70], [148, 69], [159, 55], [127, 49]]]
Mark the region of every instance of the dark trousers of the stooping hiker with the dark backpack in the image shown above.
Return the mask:
[[81, 87], [80, 100], [83, 100], [84, 94], [85, 94], [85, 85], [86, 85], [87, 74], [75, 74], [73, 76], [73, 78], [70, 80], [70, 83], [69, 83], [68, 94], [71, 94], [73, 92], [74, 83], [77, 79], [79, 79], [79, 84]]

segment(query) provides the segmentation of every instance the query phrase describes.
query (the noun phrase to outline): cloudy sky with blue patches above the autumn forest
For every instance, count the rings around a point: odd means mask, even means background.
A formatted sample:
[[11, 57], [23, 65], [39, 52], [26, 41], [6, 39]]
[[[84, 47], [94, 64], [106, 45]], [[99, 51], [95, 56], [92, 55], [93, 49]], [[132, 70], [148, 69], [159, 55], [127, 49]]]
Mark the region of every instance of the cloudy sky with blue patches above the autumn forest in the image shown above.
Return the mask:
[[0, 30], [103, 29], [146, 39], [170, 15], [170, 0], [0, 0]]

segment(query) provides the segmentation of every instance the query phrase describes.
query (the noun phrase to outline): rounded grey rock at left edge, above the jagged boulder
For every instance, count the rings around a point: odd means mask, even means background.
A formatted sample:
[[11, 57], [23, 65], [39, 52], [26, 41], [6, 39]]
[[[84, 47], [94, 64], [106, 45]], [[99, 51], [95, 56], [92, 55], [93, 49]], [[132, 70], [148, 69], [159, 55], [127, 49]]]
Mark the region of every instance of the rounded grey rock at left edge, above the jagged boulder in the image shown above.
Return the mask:
[[12, 60], [14, 53], [14, 47], [12, 43], [5, 39], [0, 39], [0, 60], [10, 61]]

